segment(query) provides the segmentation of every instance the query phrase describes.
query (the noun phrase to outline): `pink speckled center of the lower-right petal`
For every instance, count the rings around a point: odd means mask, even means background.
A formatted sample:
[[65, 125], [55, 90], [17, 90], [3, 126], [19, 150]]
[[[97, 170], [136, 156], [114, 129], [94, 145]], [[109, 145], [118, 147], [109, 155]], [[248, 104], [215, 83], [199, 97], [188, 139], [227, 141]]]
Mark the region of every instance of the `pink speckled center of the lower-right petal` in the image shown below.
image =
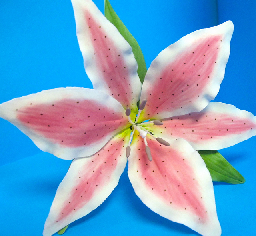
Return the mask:
[[[201, 221], [207, 219], [206, 209], [202, 202], [200, 186], [194, 170], [186, 162], [186, 157], [172, 147], [148, 142], [152, 162], [148, 161], [145, 146], [138, 146], [139, 172], [142, 180], [152, 194], [158, 195], [174, 208], [188, 210], [196, 214]], [[201, 201], [200, 201], [201, 200]]]

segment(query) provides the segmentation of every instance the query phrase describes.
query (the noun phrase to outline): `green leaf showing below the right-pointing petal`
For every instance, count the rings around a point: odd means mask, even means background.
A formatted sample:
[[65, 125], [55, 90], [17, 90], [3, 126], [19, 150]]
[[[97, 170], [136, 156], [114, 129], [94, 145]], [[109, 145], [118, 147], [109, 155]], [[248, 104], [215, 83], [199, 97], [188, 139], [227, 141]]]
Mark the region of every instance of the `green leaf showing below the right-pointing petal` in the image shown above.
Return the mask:
[[216, 150], [198, 151], [204, 159], [213, 181], [243, 184], [244, 177]]

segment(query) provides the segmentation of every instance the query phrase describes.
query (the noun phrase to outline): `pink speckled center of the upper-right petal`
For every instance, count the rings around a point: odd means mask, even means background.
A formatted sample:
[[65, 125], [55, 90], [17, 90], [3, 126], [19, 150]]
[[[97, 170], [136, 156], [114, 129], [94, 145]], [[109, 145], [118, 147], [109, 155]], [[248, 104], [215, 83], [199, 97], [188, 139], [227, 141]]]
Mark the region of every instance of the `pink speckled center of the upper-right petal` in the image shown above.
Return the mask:
[[180, 109], [201, 96], [212, 80], [220, 43], [220, 36], [208, 37], [166, 66], [149, 92], [148, 117], [156, 112]]

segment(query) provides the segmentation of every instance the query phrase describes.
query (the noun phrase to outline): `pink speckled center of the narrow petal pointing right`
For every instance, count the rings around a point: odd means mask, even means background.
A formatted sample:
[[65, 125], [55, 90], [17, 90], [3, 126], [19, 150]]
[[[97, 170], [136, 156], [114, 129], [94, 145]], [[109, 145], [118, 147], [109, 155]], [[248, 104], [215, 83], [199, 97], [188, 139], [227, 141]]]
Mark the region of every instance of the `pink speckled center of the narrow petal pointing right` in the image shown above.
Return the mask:
[[[237, 116], [228, 116], [214, 112], [193, 112], [184, 116], [175, 116], [164, 122], [166, 132], [183, 137], [190, 142], [199, 142], [228, 135], [240, 135], [256, 128], [252, 120]], [[161, 127], [162, 128], [162, 127]]]

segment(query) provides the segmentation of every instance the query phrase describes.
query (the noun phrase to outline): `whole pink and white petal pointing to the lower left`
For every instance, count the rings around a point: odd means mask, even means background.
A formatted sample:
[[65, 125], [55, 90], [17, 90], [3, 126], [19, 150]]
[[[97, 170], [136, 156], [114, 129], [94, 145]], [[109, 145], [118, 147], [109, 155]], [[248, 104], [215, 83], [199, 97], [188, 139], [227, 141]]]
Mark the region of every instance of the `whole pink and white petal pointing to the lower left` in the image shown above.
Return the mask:
[[126, 166], [128, 132], [112, 138], [93, 156], [74, 159], [57, 189], [44, 225], [44, 236], [87, 215], [110, 195]]

